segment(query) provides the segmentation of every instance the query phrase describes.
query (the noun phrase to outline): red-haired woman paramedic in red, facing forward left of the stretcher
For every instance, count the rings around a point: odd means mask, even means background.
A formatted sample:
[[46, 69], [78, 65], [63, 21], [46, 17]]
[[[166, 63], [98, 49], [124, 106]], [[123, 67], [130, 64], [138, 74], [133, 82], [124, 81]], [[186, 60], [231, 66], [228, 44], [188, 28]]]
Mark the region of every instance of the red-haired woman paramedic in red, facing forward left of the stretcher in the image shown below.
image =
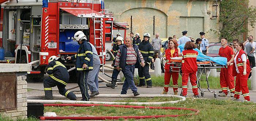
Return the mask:
[[[170, 79], [172, 76], [173, 79], [173, 92], [175, 95], [177, 95], [178, 93], [178, 77], [179, 77], [179, 72], [178, 72], [178, 68], [170, 68], [170, 63], [171, 62], [171, 57], [178, 57], [178, 43], [175, 39], [171, 39], [169, 40], [169, 44], [168, 44], [169, 48], [165, 50], [165, 56], [166, 56], [166, 63], [165, 63], [165, 85], [164, 85], [164, 89], [163, 92], [161, 94], [167, 94], [168, 92], [168, 88], [169, 88], [169, 84], [170, 84]], [[177, 72], [172, 72], [170, 71], [174, 70]]]

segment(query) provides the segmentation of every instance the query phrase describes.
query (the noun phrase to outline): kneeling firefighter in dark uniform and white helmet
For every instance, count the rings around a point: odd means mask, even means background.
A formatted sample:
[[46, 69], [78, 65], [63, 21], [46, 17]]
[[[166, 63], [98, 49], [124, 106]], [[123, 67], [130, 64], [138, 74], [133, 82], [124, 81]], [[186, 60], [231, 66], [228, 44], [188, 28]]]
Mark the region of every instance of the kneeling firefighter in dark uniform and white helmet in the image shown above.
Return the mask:
[[46, 67], [46, 73], [49, 74], [49, 77], [44, 79], [45, 98], [52, 100], [52, 87], [57, 86], [61, 95], [70, 100], [76, 100], [76, 95], [65, 89], [69, 80], [69, 74], [67, 68], [60, 61], [62, 61], [61, 58], [56, 56], [51, 56], [48, 60], [49, 64]]

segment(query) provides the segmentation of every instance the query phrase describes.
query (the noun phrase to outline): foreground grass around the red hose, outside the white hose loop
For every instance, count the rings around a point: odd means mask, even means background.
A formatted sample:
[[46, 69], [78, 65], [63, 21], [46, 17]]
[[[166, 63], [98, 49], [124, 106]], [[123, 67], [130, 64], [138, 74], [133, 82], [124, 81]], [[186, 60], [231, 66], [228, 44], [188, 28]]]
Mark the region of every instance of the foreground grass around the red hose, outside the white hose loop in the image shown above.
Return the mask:
[[[159, 106], [159, 105], [150, 105]], [[230, 100], [200, 100], [187, 98], [177, 104], [162, 104], [161, 106], [192, 108], [200, 110], [198, 115], [141, 119], [138, 121], [255, 121], [256, 106], [252, 102], [233, 102]], [[68, 110], [68, 112], [67, 112]], [[191, 113], [185, 110], [158, 110], [158, 109], [133, 109], [113, 108], [103, 106], [92, 107], [45, 107], [44, 112], [56, 112], [58, 116], [148, 116], [159, 114]], [[124, 119], [119, 119], [124, 121]], [[67, 120], [69, 121], [69, 120]], [[129, 119], [128, 121], [136, 121]]]

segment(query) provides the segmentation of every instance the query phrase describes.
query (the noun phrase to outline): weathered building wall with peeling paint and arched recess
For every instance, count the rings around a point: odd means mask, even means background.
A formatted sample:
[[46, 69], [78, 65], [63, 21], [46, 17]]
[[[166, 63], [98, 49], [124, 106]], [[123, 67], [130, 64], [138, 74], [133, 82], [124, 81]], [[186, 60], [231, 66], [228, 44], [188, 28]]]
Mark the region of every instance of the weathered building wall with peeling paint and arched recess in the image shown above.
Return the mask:
[[132, 31], [181, 37], [181, 31], [187, 30], [196, 39], [204, 31], [213, 42], [218, 41], [214, 31], [219, 28], [219, 17], [212, 17], [216, 15], [214, 4], [216, 0], [105, 0], [105, 9], [114, 13], [116, 21], [129, 24], [127, 35]]

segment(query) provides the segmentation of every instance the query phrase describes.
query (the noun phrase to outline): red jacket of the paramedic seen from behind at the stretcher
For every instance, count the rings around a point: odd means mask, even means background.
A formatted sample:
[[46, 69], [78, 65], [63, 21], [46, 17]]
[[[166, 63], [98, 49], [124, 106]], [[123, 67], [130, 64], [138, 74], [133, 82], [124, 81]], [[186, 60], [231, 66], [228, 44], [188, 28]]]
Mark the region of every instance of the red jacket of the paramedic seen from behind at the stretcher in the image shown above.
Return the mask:
[[182, 54], [183, 54], [182, 66], [181, 66], [182, 73], [196, 73], [197, 72], [196, 58], [197, 58], [198, 52], [194, 51], [193, 49], [189, 49], [189, 50], [182, 51]]

